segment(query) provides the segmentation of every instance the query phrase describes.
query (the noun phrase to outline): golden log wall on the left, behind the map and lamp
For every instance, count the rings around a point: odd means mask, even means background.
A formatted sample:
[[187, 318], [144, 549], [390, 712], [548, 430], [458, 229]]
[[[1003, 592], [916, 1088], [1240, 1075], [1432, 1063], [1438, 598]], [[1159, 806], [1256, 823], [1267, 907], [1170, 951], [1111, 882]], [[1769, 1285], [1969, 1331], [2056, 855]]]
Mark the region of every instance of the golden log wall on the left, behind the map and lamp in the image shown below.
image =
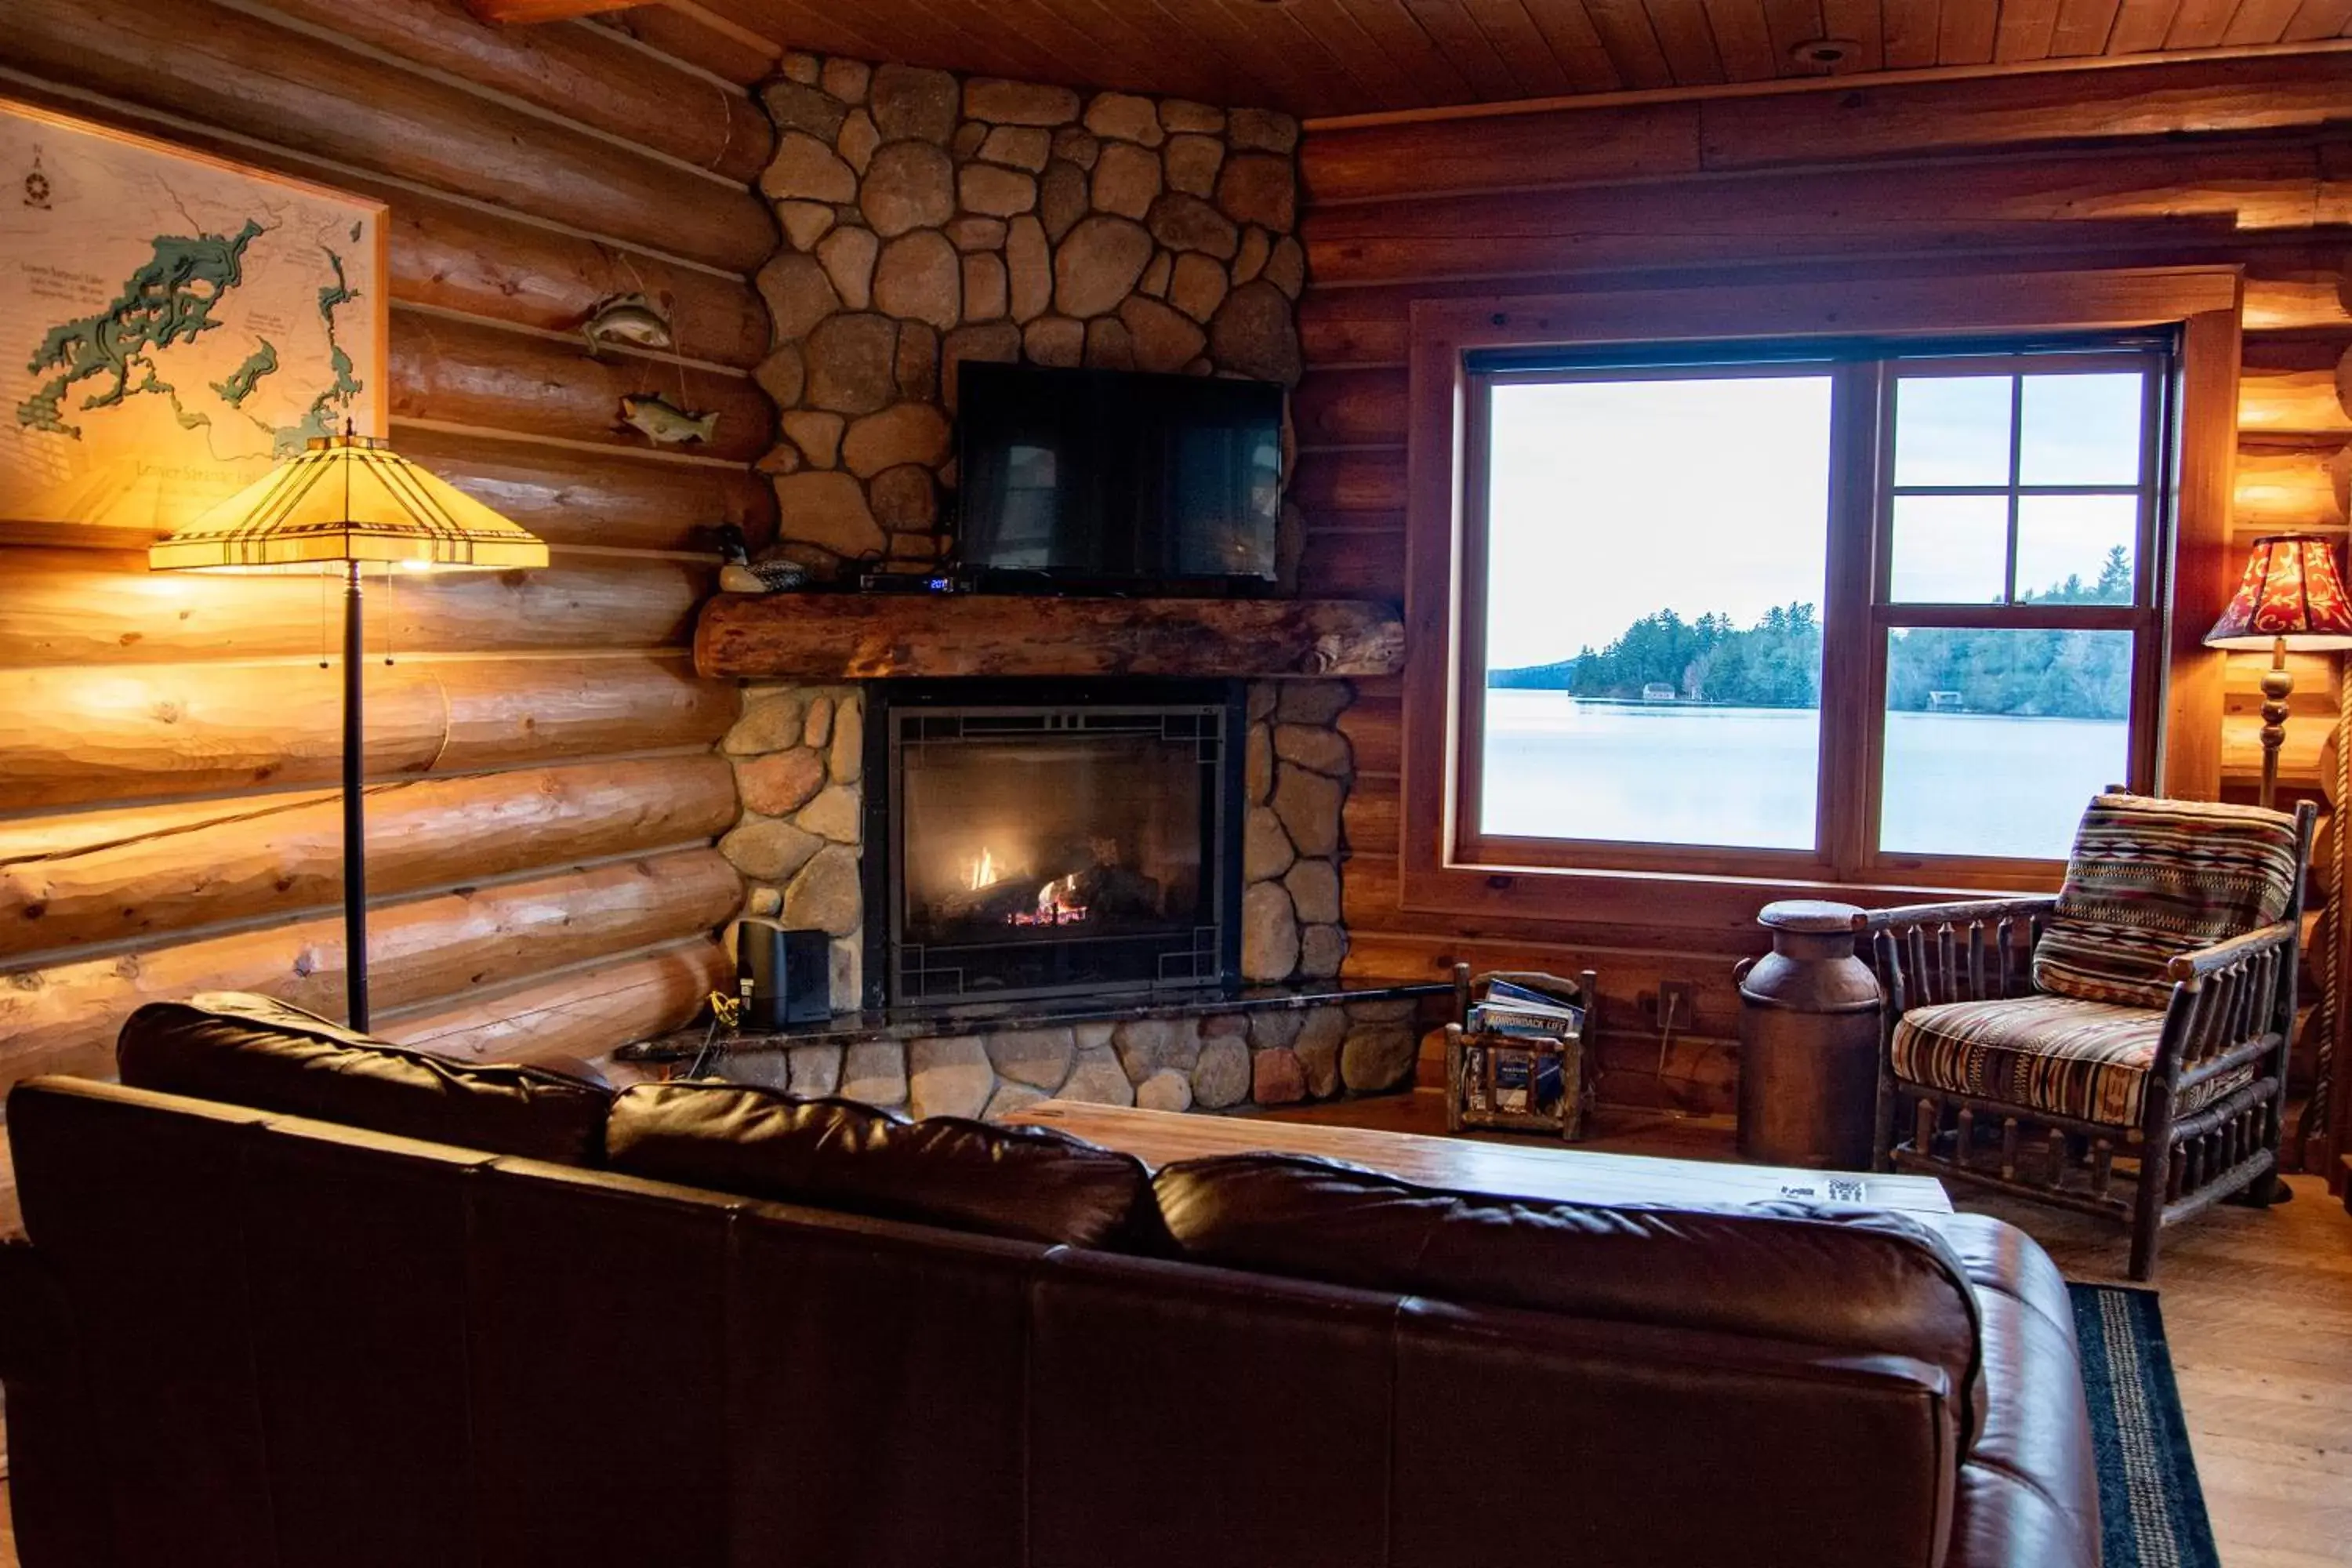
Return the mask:
[[[661, 42], [459, 0], [21, 0], [0, 94], [390, 202], [393, 444], [553, 562], [372, 592], [379, 1027], [597, 1058], [684, 1023], [741, 900], [710, 849], [736, 698], [687, 644], [710, 524], [774, 534], [767, 115]], [[675, 357], [586, 353], [630, 292]], [[717, 437], [654, 449], [616, 423], [637, 390]], [[339, 597], [26, 538], [0, 536], [0, 1086], [108, 1072], [153, 997], [341, 1016]]]

